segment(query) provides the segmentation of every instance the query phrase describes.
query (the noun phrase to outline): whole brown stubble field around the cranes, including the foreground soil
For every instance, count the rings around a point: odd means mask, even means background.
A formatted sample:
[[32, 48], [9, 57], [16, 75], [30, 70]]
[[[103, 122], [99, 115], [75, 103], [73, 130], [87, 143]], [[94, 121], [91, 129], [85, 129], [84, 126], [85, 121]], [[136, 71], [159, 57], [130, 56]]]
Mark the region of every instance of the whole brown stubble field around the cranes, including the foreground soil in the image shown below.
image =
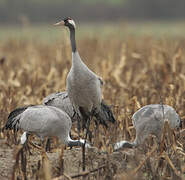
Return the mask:
[[[0, 128], [16, 107], [41, 104], [53, 92], [65, 90], [71, 66], [71, 48], [66, 38], [44, 43], [9, 39], [0, 44]], [[65, 37], [64, 36], [64, 37]], [[185, 178], [185, 39], [124, 37], [78, 39], [84, 62], [104, 80], [103, 96], [112, 105], [117, 123], [93, 131], [97, 149], [87, 151], [86, 175], [81, 170], [81, 149], [52, 144], [49, 161], [31, 148], [16, 152], [13, 132], [0, 134], [0, 179], [184, 179]], [[180, 135], [165, 134], [165, 148], [155, 148], [150, 137], [138, 149], [112, 153], [112, 144], [134, 140], [131, 116], [146, 104], [171, 105], [183, 120]], [[77, 138], [76, 126], [72, 135]], [[81, 134], [83, 137], [83, 133]], [[176, 146], [174, 145], [176, 144]], [[178, 147], [178, 148], [176, 148]], [[63, 149], [63, 148], [62, 148]], [[64, 160], [62, 160], [64, 159]], [[63, 166], [62, 166], [63, 162]], [[51, 169], [51, 171], [49, 171]], [[64, 175], [62, 175], [64, 174]], [[58, 177], [58, 178], [57, 178]]]

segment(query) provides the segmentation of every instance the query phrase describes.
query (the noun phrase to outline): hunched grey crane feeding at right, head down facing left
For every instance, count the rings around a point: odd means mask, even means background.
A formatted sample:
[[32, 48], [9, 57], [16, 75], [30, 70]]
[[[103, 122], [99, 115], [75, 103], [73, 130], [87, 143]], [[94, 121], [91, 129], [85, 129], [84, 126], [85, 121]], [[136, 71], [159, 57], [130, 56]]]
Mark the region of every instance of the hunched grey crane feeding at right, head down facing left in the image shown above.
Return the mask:
[[134, 142], [117, 142], [114, 145], [114, 150], [137, 147], [141, 145], [150, 134], [155, 135], [159, 142], [165, 119], [168, 120], [169, 126], [172, 129], [181, 126], [182, 122], [179, 115], [169, 105], [150, 104], [142, 107], [132, 116], [133, 126], [136, 129], [136, 138]]

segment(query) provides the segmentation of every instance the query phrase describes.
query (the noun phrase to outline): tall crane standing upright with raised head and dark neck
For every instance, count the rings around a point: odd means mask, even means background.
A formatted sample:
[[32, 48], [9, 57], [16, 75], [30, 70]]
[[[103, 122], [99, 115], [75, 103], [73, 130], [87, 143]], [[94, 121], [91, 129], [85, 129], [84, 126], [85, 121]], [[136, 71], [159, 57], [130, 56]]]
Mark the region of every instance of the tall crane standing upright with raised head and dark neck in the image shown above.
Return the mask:
[[67, 76], [67, 92], [75, 112], [87, 121], [88, 127], [92, 115], [101, 109], [103, 82], [80, 58], [75, 40], [75, 22], [67, 17], [55, 25], [66, 26], [70, 31], [72, 67]]

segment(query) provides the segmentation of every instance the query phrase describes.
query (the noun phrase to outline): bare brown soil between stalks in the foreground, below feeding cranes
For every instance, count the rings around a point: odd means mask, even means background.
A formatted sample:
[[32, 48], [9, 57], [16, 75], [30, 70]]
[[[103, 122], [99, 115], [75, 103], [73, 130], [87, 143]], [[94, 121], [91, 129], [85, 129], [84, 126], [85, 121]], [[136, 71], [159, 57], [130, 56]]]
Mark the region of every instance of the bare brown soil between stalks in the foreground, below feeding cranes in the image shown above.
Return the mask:
[[[0, 178], [10, 179], [13, 175], [13, 169], [16, 162], [16, 146], [9, 147], [5, 141], [0, 142]], [[42, 155], [40, 153], [34, 152], [33, 149], [30, 150], [33, 154], [30, 155], [29, 152], [24, 154], [27, 157], [27, 174], [32, 174], [33, 171], [37, 172], [38, 162], [42, 161]], [[57, 152], [55, 152], [57, 151]], [[57, 177], [62, 172], [62, 164], [60, 161], [61, 150], [55, 149], [54, 152], [47, 152], [48, 162], [52, 171], [52, 176]], [[102, 176], [107, 168], [107, 161], [111, 166], [111, 171], [109, 174], [115, 174], [116, 172], [121, 173], [128, 169], [128, 157], [129, 159], [134, 158], [134, 150], [128, 150], [128, 152], [114, 152], [112, 154], [99, 151], [97, 148], [90, 148], [86, 151], [86, 171], [90, 172], [95, 170], [95, 173], [91, 173], [91, 176]], [[20, 157], [19, 157], [20, 158]], [[63, 159], [63, 173], [68, 176], [75, 176], [82, 172], [82, 151], [81, 148], [73, 148], [64, 150], [62, 156]], [[19, 165], [22, 162], [19, 160]], [[96, 171], [97, 169], [97, 171]], [[30, 172], [32, 171], [32, 172]], [[97, 173], [98, 172], [98, 173]], [[34, 174], [35, 175], [35, 174]], [[30, 177], [34, 179], [34, 175]]]

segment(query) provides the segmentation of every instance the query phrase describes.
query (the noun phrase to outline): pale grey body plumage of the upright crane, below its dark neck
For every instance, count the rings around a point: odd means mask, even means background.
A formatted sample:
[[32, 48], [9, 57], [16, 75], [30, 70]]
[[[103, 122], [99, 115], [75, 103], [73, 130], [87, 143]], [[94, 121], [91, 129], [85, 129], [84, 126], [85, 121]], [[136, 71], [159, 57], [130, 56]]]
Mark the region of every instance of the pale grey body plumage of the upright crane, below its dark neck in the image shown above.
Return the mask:
[[[67, 92], [75, 111], [90, 114], [100, 111], [101, 79], [82, 62], [78, 52], [72, 53], [72, 67], [67, 76]], [[81, 109], [80, 109], [81, 108]]]

